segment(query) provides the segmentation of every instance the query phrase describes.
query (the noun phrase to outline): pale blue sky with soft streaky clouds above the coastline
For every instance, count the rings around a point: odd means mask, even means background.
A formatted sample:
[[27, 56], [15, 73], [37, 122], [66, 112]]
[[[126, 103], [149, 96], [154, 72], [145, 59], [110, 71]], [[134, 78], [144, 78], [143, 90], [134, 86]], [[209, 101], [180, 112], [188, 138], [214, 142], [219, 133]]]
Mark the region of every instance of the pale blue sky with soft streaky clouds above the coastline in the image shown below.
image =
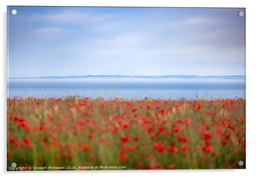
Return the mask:
[[8, 76], [245, 75], [239, 11], [8, 6]]

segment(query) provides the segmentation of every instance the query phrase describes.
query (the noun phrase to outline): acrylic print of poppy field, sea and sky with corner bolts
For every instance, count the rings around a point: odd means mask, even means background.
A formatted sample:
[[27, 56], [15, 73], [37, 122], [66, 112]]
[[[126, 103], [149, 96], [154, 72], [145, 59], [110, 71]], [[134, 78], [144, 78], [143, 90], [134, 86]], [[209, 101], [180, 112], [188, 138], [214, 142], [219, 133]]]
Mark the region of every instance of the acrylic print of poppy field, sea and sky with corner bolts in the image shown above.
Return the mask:
[[8, 171], [245, 169], [245, 8], [7, 14]]

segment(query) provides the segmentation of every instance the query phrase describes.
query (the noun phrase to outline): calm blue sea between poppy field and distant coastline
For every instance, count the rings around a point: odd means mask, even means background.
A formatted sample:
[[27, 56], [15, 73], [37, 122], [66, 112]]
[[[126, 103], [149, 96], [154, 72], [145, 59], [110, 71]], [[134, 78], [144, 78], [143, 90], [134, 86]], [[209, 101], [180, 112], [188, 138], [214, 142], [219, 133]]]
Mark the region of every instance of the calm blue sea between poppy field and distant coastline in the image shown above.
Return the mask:
[[245, 98], [245, 80], [75, 80], [9, 79], [8, 97], [103, 97], [110, 99]]

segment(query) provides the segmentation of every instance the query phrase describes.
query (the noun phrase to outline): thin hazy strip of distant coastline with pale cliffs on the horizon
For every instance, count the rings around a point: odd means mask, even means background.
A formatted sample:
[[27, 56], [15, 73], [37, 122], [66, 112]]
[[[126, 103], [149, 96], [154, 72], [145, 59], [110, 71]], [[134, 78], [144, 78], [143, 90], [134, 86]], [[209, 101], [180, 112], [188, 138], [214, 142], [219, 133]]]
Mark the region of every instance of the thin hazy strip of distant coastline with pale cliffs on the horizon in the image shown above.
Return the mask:
[[42, 77], [9, 77], [8, 79], [90, 79], [90, 80], [133, 80], [133, 79], [202, 79], [202, 80], [245, 80], [245, 75], [197, 76], [197, 75], [164, 75], [164, 76], [130, 76], [130, 75], [80, 75], [80, 76], [42, 76]]

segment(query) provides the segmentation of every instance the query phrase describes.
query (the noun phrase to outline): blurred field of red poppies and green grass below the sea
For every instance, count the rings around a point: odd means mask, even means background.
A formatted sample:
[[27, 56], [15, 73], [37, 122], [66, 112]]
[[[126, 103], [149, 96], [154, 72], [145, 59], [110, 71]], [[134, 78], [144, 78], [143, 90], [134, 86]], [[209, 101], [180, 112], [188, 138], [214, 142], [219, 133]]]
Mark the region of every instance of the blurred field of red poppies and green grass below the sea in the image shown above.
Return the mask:
[[7, 170], [245, 169], [245, 153], [242, 98], [7, 99]]

